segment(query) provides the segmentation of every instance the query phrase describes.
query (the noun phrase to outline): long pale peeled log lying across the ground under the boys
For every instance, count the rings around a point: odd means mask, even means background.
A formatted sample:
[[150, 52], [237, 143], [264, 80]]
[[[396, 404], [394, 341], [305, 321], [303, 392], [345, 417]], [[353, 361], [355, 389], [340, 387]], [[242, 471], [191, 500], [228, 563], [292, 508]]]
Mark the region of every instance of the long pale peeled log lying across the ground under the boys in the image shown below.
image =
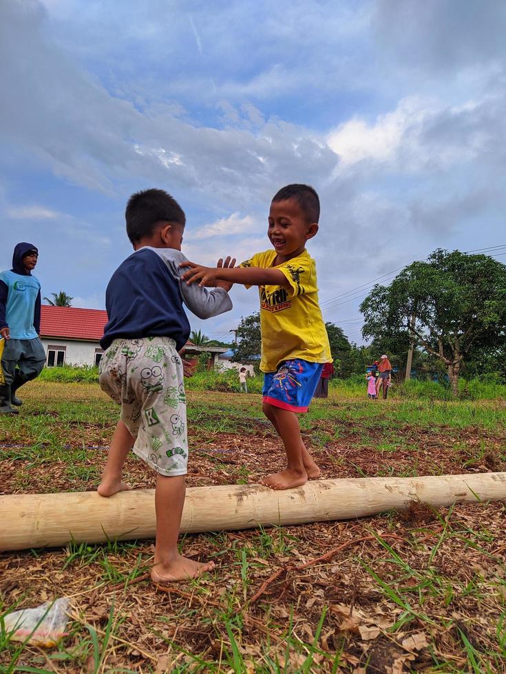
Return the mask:
[[[181, 531], [251, 529], [366, 517], [410, 501], [434, 507], [506, 500], [506, 472], [438, 477], [330, 479], [273, 491], [262, 485], [187, 489]], [[109, 499], [96, 492], [0, 496], [0, 550], [155, 536], [154, 490]]]

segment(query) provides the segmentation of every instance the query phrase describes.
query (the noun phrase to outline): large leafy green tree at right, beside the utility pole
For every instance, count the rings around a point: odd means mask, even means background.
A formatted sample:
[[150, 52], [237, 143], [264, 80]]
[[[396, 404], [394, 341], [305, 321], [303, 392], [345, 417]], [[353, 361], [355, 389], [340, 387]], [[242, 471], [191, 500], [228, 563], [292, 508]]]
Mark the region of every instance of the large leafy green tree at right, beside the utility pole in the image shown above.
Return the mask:
[[[506, 340], [506, 267], [488, 255], [435, 250], [375, 285], [360, 305], [362, 334], [409, 339], [444, 365], [454, 393], [465, 359]], [[413, 318], [414, 317], [414, 318]]]

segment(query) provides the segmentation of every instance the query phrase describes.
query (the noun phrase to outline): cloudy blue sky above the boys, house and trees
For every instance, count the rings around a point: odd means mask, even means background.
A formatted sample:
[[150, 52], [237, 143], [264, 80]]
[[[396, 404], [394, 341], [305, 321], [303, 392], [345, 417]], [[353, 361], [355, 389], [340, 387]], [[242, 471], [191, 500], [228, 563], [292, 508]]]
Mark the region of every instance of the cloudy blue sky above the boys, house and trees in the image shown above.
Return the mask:
[[[0, 268], [35, 243], [43, 296], [103, 309], [131, 193], [169, 191], [215, 265], [270, 248], [273, 195], [304, 182], [324, 320], [362, 343], [375, 279], [506, 244], [505, 34], [503, 0], [5, 0]], [[231, 297], [191, 327], [230, 340], [258, 308]]]

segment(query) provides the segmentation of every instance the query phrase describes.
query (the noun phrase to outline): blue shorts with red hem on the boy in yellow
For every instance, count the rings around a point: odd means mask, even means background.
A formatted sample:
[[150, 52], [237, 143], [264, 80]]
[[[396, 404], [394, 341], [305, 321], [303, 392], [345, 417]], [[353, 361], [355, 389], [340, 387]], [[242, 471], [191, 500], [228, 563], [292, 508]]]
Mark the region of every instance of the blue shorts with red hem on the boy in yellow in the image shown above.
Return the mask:
[[285, 360], [277, 371], [264, 374], [263, 402], [292, 412], [307, 412], [323, 369], [321, 362]]

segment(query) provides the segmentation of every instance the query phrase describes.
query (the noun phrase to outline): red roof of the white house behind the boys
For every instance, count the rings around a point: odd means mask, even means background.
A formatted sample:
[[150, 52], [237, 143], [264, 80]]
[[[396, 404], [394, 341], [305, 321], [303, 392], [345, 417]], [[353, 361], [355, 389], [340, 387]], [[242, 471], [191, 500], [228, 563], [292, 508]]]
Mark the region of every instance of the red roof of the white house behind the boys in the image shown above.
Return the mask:
[[104, 334], [107, 312], [102, 309], [41, 306], [41, 336], [98, 342]]

